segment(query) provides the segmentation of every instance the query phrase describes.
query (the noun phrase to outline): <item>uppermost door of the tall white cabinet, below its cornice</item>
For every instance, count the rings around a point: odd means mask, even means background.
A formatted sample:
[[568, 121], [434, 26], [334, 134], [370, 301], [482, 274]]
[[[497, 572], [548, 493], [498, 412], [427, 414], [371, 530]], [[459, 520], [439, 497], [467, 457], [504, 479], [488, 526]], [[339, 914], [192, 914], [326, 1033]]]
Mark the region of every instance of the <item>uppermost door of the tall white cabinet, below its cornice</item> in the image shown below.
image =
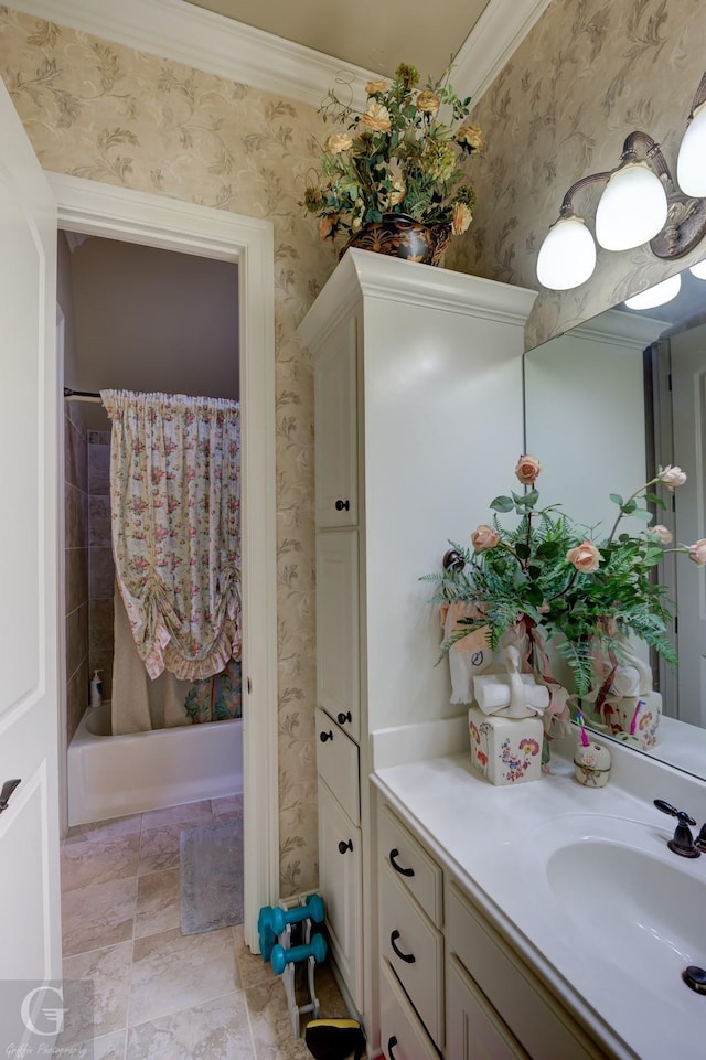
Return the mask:
[[357, 524], [356, 321], [344, 320], [317, 354], [317, 526]]

